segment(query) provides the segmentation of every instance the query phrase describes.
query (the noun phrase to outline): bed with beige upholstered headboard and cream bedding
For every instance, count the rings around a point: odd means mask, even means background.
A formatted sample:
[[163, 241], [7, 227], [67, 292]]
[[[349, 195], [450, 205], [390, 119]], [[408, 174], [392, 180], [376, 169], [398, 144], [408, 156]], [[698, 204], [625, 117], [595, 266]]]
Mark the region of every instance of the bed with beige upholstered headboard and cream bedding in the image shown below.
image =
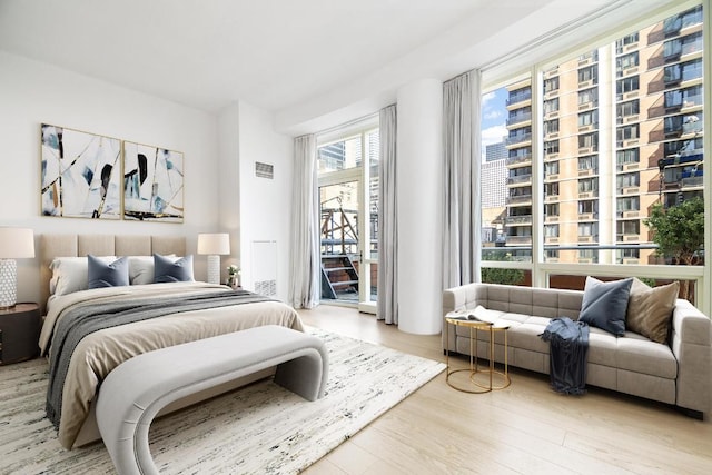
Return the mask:
[[[178, 273], [192, 277], [191, 256], [186, 255], [182, 237], [42, 235], [40, 256], [47, 304], [39, 345], [50, 365], [48, 416], [66, 448], [100, 438], [93, 402], [103, 378], [126, 359], [261, 325], [304, 329], [291, 307], [255, 294], [191, 279], [154, 284], [152, 263], [159, 257], [156, 269], [166, 258], [182, 266], [176, 267]], [[86, 269], [87, 256], [100, 256], [107, 264], [126, 257], [121, 263], [130, 266], [129, 285], [87, 289], [86, 283], [75, 279]], [[156, 278], [158, 274], [156, 270]], [[102, 327], [106, 325], [108, 328]], [[270, 374], [263, 372], [200, 393], [162, 414]]]

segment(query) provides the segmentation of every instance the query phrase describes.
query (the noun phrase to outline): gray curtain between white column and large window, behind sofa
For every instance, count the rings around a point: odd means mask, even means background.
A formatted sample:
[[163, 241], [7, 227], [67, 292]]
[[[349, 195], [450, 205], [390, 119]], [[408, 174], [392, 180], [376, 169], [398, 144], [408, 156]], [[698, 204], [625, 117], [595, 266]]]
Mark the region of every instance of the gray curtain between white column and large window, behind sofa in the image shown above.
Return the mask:
[[461, 75], [443, 86], [445, 288], [479, 281], [479, 88], [478, 70]]

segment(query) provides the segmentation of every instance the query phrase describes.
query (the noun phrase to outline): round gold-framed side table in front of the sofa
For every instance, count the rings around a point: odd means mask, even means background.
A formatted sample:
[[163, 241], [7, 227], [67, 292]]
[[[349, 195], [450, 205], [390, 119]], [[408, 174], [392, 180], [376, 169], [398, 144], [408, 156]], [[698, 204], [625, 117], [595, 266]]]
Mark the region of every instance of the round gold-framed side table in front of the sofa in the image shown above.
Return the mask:
[[[491, 390], [504, 389], [510, 386], [510, 372], [508, 372], [508, 360], [507, 360], [507, 329], [510, 328], [508, 324], [504, 323], [490, 323], [477, 319], [468, 319], [466, 315], [458, 315], [452, 317], [445, 317], [445, 340], [449, 342], [449, 327], [451, 325], [455, 327], [455, 331], [457, 331], [457, 327], [469, 328], [469, 365], [466, 368], [453, 368], [449, 362], [449, 349], [445, 347], [445, 359], [447, 364], [447, 375], [445, 380], [447, 385], [454, 389], [461, 390], [463, 393], [471, 394], [484, 394], [490, 393]], [[488, 350], [487, 357], [490, 364], [486, 367], [481, 367], [478, 362], [478, 333], [479, 331], [488, 331], [490, 333], [490, 342], [488, 342]], [[496, 370], [494, 367], [494, 338], [495, 334], [504, 333], [504, 370]], [[455, 383], [451, 378], [451, 376], [457, 373], [468, 373], [467, 386]], [[482, 377], [479, 375], [485, 376], [485, 382], [482, 382]], [[502, 378], [502, 384], [494, 384], [494, 376], [500, 375]]]

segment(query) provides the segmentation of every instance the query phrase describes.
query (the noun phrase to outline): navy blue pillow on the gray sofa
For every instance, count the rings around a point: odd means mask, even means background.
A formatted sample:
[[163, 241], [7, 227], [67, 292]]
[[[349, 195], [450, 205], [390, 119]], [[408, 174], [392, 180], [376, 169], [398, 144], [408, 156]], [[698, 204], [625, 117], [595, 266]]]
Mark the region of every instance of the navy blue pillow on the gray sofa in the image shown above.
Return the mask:
[[632, 278], [604, 283], [586, 277], [578, 320], [615, 336], [624, 336], [632, 284]]

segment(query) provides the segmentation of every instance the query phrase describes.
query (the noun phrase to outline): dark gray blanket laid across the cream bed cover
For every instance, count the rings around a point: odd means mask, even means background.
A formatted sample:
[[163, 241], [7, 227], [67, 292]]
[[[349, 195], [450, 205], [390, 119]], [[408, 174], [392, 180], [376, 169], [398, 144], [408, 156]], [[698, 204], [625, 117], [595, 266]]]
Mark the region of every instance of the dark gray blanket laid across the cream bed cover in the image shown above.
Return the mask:
[[103, 328], [127, 325], [135, 321], [162, 317], [180, 311], [225, 307], [270, 300], [267, 297], [235, 290], [225, 293], [201, 293], [176, 297], [111, 301], [106, 304], [79, 305], [67, 311], [58, 324], [50, 349], [49, 385], [47, 388], [47, 417], [59, 426], [62, 406], [62, 390], [69, 360], [83, 337]]

